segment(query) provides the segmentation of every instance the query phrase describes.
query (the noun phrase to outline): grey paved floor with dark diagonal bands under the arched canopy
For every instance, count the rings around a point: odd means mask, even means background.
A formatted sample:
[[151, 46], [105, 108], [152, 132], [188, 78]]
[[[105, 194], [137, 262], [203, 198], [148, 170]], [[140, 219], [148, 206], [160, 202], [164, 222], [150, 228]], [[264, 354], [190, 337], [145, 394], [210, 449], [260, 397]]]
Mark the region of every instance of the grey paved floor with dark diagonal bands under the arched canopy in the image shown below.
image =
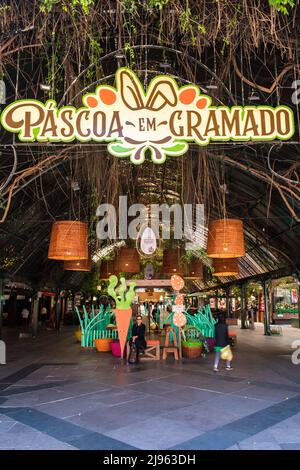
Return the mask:
[[5, 331], [0, 449], [300, 449], [300, 330], [231, 330], [234, 370], [219, 373], [213, 354], [129, 366], [80, 352], [73, 327]]

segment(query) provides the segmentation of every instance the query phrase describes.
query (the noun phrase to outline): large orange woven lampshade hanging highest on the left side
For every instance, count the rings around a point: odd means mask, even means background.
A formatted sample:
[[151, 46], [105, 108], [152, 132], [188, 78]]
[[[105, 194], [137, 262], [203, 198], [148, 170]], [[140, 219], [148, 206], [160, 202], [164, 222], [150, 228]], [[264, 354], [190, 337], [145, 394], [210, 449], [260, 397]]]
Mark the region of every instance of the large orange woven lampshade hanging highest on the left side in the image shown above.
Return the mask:
[[88, 259], [88, 230], [85, 222], [63, 220], [54, 222], [48, 250], [49, 259]]

